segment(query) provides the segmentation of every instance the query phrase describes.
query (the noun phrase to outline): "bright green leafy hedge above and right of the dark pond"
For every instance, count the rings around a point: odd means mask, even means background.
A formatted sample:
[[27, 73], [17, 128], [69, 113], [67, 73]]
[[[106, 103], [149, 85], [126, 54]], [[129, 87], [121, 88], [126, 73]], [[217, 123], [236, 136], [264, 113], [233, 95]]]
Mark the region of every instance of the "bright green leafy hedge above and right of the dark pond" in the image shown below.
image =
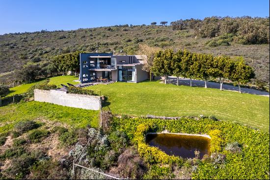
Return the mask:
[[[192, 173], [193, 179], [269, 179], [269, 133], [240, 125], [231, 121], [216, 121], [207, 118], [195, 120], [144, 119], [114, 117], [112, 127], [127, 134], [132, 142], [143, 142], [138, 132], [168, 130], [172, 133], [208, 134], [211, 136], [211, 152], [225, 157], [222, 165], [202, 159]], [[153, 124], [155, 128], [140, 124]], [[140, 125], [140, 126], [139, 126]], [[143, 130], [140, 130], [140, 129]], [[141, 133], [143, 134], [143, 133]], [[241, 152], [225, 150], [229, 143], [238, 142]], [[142, 143], [143, 144], [143, 143]], [[143, 144], [145, 146], [146, 144]], [[144, 147], [146, 149], [149, 146]], [[148, 151], [149, 152], [149, 151]], [[213, 153], [214, 155], [215, 153]]]

